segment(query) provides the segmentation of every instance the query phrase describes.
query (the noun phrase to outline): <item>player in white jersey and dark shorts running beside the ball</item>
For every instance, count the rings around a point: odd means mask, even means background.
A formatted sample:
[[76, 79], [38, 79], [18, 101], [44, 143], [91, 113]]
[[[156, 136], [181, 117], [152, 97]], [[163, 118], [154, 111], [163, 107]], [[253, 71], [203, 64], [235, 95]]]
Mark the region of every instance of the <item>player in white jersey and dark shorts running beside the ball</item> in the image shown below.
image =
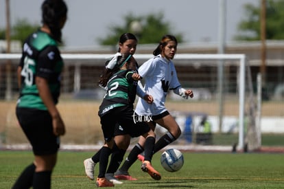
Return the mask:
[[[183, 89], [178, 81], [176, 69], [172, 59], [176, 54], [178, 41], [176, 37], [165, 35], [154, 50], [154, 57], [147, 60], [141, 67], [139, 67], [139, 74], [145, 80], [144, 87], [137, 93], [149, 93], [153, 96], [154, 102], [147, 104], [141, 98], [137, 103], [136, 113], [141, 116], [150, 118], [150, 127], [154, 130], [156, 123], [167, 129], [167, 133], [163, 135], [155, 144], [153, 153], [161, 150], [171, 142], [174, 142], [181, 134], [180, 126], [176, 123], [169, 111], [165, 107], [165, 99], [167, 92], [173, 90], [182, 98], [193, 98], [193, 91]], [[145, 120], [144, 118], [137, 118], [137, 120]], [[118, 179], [125, 179], [125, 175], [129, 175], [128, 169], [137, 160], [137, 157], [143, 161], [143, 155], [140, 155], [144, 149], [145, 140], [140, 137], [139, 142], [132, 148], [132, 151], [126, 158], [121, 168], [115, 173]]]

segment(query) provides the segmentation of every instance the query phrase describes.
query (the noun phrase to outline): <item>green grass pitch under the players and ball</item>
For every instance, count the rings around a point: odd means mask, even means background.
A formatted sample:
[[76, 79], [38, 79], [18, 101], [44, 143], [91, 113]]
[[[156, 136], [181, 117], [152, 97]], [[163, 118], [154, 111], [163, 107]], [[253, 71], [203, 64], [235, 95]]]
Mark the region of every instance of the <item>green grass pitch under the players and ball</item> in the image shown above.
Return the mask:
[[[192, 153], [182, 152], [184, 166], [175, 173], [163, 170], [161, 153], [152, 160], [162, 179], [153, 180], [140, 170], [140, 162], [130, 168], [137, 181], [124, 181], [115, 188], [284, 188], [283, 153]], [[127, 153], [128, 154], [128, 153]], [[93, 152], [60, 151], [52, 175], [52, 188], [96, 188], [84, 174], [84, 159]], [[0, 188], [12, 188], [23, 168], [32, 162], [31, 151], [0, 152]], [[99, 165], [95, 167], [97, 175]]]

